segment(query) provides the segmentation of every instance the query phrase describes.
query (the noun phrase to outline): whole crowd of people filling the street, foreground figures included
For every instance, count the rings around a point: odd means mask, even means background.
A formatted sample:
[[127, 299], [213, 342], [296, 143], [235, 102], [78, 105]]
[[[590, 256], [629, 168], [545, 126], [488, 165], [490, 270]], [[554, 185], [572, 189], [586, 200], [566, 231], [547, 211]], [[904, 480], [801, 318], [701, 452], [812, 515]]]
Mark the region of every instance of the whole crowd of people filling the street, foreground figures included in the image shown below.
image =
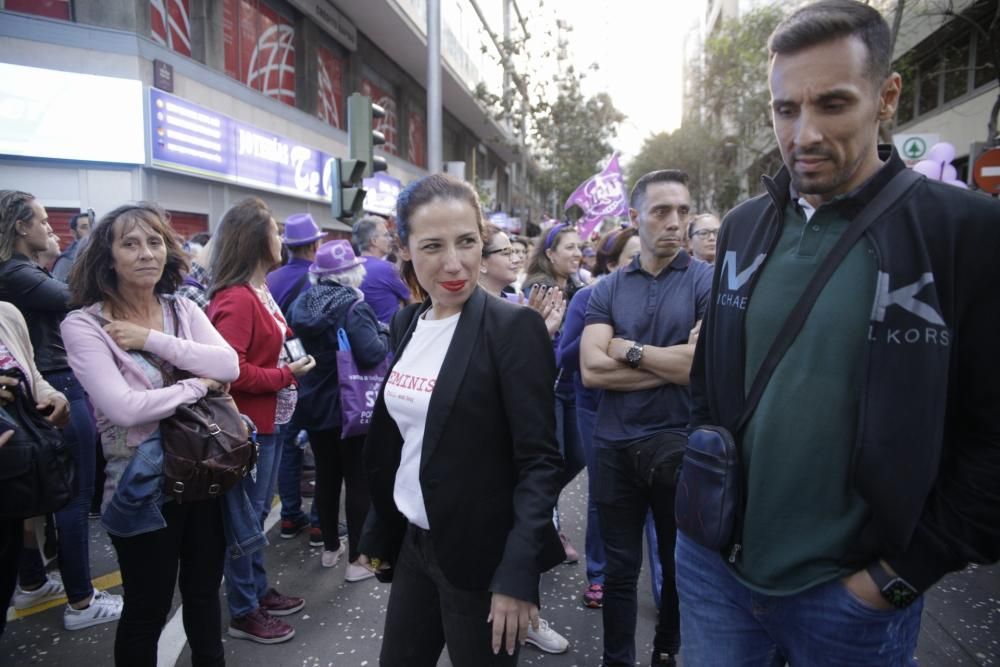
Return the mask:
[[[488, 225], [472, 186], [430, 175], [351, 241], [249, 198], [187, 240], [155, 203], [88, 211], [60, 252], [44, 202], [0, 190], [0, 406], [27, 396], [77, 480], [53, 516], [0, 520], [0, 602], [65, 599], [67, 630], [117, 621], [129, 667], [156, 664], [175, 587], [195, 665], [225, 663], [223, 588], [230, 637], [288, 641], [284, 617], [308, 601], [268, 577], [277, 493], [281, 537], [308, 528], [321, 567], [346, 556], [347, 582], [392, 582], [380, 664], [436, 665], [447, 647], [456, 667], [515, 665], [525, 642], [571, 645], [539, 589], [580, 558], [558, 500], [586, 468], [580, 602], [602, 612], [606, 667], [637, 664], [643, 534], [652, 666], [911, 664], [921, 593], [1000, 556], [1000, 276], [956, 242], [961, 215], [996, 247], [997, 206], [914, 179], [865, 220], [907, 183], [876, 141], [900, 90], [877, 11], [822, 0], [768, 46], [785, 167], [725, 225], [665, 168], [637, 179], [627, 221], [525, 239]], [[786, 335], [839, 238], [855, 245]], [[765, 362], [775, 379], [758, 384]], [[347, 368], [382, 380], [360, 432]], [[163, 489], [161, 421], [210, 392], [245, 416], [255, 466], [181, 503]], [[709, 503], [685, 473], [731, 463], [695, 456], [692, 426], [735, 436], [745, 487], [724, 549], [682, 525]], [[91, 584], [99, 478], [123, 596]], [[54, 534], [51, 563], [36, 530]]]

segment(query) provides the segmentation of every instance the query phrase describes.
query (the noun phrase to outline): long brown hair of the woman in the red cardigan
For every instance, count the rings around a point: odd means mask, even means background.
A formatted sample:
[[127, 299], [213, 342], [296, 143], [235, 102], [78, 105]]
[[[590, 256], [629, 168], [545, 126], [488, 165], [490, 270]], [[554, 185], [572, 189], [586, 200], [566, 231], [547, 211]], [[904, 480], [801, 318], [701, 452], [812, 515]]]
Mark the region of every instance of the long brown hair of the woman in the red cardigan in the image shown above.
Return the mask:
[[261, 263], [273, 262], [271, 220], [274, 214], [259, 197], [248, 197], [222, 216], [212, 239], [212, 287], [208, 296], [245, 285]]

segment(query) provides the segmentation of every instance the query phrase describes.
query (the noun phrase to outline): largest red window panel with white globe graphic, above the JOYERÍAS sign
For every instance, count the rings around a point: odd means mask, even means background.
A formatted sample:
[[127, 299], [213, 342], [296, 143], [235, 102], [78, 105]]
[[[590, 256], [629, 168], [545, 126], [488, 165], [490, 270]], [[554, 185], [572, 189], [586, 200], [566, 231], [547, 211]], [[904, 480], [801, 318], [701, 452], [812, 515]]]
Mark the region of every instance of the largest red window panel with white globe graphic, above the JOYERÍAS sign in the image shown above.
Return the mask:
[[295, 26], [261, 0], [223, 0], [226, 74], [295, 106]]

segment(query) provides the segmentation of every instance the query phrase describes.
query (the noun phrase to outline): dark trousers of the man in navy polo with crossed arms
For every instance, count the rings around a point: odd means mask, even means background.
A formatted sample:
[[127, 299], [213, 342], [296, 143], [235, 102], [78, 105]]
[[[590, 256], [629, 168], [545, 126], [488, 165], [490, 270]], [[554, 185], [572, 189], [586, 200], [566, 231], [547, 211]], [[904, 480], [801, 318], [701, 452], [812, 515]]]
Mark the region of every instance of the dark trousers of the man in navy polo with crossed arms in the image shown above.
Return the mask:
[[663, 587], [660, 618], [653, 648], [677, 654], [680, 614], [674, 579], [674, 493], [670, 487], [650, 488], [637, 466], [639, 444], [622, 449], [597, 447], [595, 493], [604, 537], [604, 662], [605, 667], [635, 665], [636, 584], [642, 566], [642, 529], [653, 511], [659, 542]]

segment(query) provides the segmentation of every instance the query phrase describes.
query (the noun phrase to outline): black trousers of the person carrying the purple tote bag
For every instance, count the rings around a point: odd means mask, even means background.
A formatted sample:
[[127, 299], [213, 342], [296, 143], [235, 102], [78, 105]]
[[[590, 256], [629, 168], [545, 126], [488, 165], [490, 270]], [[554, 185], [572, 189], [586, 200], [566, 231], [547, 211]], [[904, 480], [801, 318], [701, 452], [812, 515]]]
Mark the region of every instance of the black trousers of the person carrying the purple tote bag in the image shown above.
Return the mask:
[[344, 510], [347, 516], [348, 560], [358, 559], [361, 529], [368, 516], [368, 478], [362, 450], [365, 437], [340, 439], [340, 429], [309, 431], [309, 446], [316, 459], [316, 496], [313, 502], [319, 510], [319, 526], [323, 531], [323, 548], [340, 548], [337, 525], [340, 521], [340, 487], [347, 487]]

